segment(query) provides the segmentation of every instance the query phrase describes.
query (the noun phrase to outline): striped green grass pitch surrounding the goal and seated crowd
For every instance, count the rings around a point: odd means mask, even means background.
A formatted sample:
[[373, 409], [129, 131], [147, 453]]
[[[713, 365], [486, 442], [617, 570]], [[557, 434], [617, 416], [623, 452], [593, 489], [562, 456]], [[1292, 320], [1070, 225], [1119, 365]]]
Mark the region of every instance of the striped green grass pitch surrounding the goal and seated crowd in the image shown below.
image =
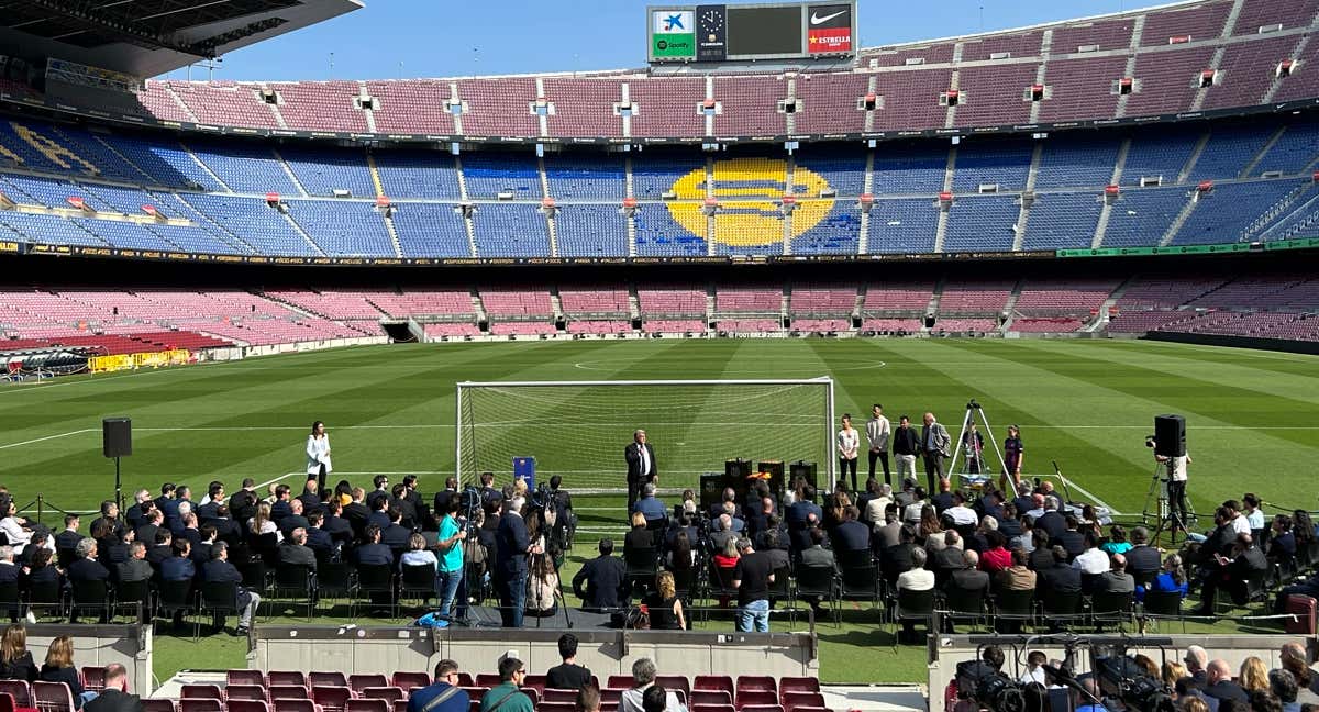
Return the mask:
[[[232, 489], [248, 476], [285, 477], [302, 465], [313, 419], [328, 425], [336, 475], [369, 488], [377, 472], [419, 472], [422, 489], [433, 490], [454, 469], [455, 381], [822, 374], [838, 382], [838, 413], [859, 419], [878, 401], [894, 419], [933, 410], [955, 430], [975, 397], [996, 438], [1008, 423], [1021, 425], [1026, 471], [1049, 473], [1057, 460], [1076, 485], [1075, 498], [1107, 502], [1120, 519], [1142, 509], [1153, 465], [1142, 442], [1159, 413], [1187, 418], [1195, 460], [1190, 494], [1202, 514], [1246, 490], [1289, 508], [1314, 505], [1308, 468], [1319, 456], [1319, 359], [1107, 340], [389, 345], [62, 378], [0, 388], [0, 484], [20, 502], [41, 493], [57, 508], [95, 508], [113, 487], [113, 464], [100, 455], [100, 419], [129, 415], [135, 454], [124, 460], [125, 492], [169, 480], [191, 484], [200, 496], [212, 479]], [[619, 423], [605, 446], [621, 455], [634, 426], [645, 423]], [[662, 468], [666, 448], [677, 446], [654, 444]], [[555, 447], [553, 436], [543, 447]], [[587, 542], [566, 576], [591, 549], [588, 539], [623, 531], [619, 497], [576, 504]], [[889, 643], [860, 612], [820, 634], [826, 680], [923, 676], [917, 649], [856, 655]], [[166, 637], [157, 650], [161, 676], [179, 667], [243, 665], [241, 646], [231, 639]]]

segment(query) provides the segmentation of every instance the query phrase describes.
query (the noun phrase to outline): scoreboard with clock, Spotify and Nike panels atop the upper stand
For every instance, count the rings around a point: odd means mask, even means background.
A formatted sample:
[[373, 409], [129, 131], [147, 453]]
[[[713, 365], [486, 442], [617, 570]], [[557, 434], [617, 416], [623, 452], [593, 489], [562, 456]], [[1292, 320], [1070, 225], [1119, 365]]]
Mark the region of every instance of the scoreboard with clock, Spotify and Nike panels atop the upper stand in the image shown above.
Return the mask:
[[652, 63], [845, 57], [856, 50], [856, 1], [650, 5]]

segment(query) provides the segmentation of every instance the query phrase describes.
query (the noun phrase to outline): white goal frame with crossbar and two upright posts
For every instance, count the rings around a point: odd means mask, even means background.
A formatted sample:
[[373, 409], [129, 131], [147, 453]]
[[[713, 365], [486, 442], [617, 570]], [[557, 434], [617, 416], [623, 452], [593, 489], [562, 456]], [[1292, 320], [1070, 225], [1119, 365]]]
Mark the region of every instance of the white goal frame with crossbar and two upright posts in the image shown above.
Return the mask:
[[[834, 378], [830, 376], [818, 376], [814, 378], [665, 378], [665, 380], [619, 380], [619, 381], [458, 381], [455, 384], [455, 402], [454, 402], [454, 423], [455, 423], [455, 438], [454, 438], [454, 463], [456, 475], [459, 477], [459, 484], [462, 484], [464, 475], [472, 476], [475, 472], [464, 472], [464, 448], [472, 448], [475, 446], [475, 431], [467, 432], [468, 427], [476, 427], [474, 423], [468, 423], [464, 418], [464, 400], [470, 397], [468, 392], [476, 389], [510, 389], [510, 388], [536, 388], [536, 389], [553, 389], [553, 388], [603, 388], [603, 389], [616, 389], [616, 388], [653, 388], [653, 386], [819, 386], [823, 390], [823, 411], [819, 414], [819, 430], [818, 438], [820, 448], [818, 452], [822, 454], [819, 458], [823, 461], [818, 463], [822, 473], [826, 473], [826, 481], [830, 488], [832, 488], [835, 481], [835, 468], [836, 458], [834, 458]], [[644, 426], [645, 423], [640, 423]], [[813, 436], [816, 438], [816, 436]], [[613, 443], [609, 443], [613, 444]], [[768, 455], [768, 454], [766, 454]], [[662, 456], [661, 456], [662, 459]], [[620, 458], [621, 460], [621, 458]], [[620, 465], [621, 467], [621, 465]], [[663, 469], [661, 469], [661, 475]]]

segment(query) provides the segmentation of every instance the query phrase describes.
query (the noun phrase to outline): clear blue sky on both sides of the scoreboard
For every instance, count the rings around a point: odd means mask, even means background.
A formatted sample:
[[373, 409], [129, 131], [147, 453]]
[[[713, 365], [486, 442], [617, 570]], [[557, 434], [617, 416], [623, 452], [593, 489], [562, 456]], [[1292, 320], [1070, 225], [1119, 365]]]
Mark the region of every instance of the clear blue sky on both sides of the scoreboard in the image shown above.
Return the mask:
[[[364, 3], [365, 8], [336, 20], [228, 54], [214, 75], [272, 80], [392, 79], [640, 67], [646, 59], [645, 7], [660, 4], [654, 0]], [[857, 16], [861, 46], [874, 46], [1150, 4], [1158, 3], [860, 0]], [[334, 53], [332, 70], [330, 53]], [[186, 75], [186, 70], [169, 74], [174, 79]], [[193, 70], [194, 79], [206, 75], [204, 69]]]

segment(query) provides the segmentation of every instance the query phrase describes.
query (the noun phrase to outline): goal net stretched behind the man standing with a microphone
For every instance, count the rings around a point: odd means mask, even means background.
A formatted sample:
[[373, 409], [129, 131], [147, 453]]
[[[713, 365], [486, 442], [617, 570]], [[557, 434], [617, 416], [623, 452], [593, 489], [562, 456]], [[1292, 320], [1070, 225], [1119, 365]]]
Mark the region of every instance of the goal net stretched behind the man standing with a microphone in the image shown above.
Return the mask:
[[[698, 489], [724, 461], [807, 460], [832, 481], [834, 381], [459, 382], [455, 461], [462, 483], [512, 477], [513, 458], [536, 458], [537, 483], [627, 490], [623, 451], [645, 430], [665, 489]], [[826, 475], [827, 473], [827, 475]]]

